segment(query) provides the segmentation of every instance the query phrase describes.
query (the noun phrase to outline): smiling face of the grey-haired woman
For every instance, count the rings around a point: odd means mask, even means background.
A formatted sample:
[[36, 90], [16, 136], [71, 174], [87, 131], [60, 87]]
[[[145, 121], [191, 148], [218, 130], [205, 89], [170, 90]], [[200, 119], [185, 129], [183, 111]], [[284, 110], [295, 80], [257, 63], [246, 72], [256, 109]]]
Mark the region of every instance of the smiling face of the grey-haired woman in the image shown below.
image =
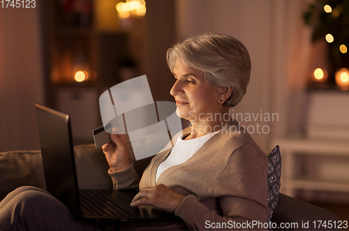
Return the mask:
[[205, 81], [202, 73], [176, 59], [173, 75], [176, 82], [170, 94], [176, 100], [179, 117], [199, 123], [218, 112], [218, 91]]

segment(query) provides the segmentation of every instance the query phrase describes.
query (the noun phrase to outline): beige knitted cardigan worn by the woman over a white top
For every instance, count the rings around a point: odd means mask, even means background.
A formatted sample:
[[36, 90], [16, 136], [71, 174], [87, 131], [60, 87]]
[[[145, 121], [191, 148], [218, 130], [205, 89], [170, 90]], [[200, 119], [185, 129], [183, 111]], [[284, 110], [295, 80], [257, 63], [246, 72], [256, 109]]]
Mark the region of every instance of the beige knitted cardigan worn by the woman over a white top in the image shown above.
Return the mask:
[[[190, 128], [184, 129], [184, 137], [189, 133]], [[156, 170], [168, 154], [170, 149], [154, 156], [140, 181], [132, 164], [125, 170], [109, 171], [114, 189], [135, 188], [138, 182], [140, 189], [156, 186]], [[168, 168], [158, 177], [157, 184], [165, 184], [186, 195], [174, 212], [184, 223], [147, 223], [144, 226], [135, 223], [127, 226], [131, 230], [206, 230], [213, 223], [267, 223], [267, 175], [267, 155], [237, 121], [230, 121], [188, 161]], [[161, 227], [149, 228], [149, 225]]]

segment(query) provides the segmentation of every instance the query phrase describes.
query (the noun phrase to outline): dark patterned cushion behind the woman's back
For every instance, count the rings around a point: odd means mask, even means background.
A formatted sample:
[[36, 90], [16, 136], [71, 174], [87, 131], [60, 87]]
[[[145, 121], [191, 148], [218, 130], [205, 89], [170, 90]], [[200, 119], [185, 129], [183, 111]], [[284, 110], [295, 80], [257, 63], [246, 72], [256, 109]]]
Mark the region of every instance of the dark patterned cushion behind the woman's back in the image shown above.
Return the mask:
[[269, 206], [269, 221], [276, 205], [279, 202], [279, 189], [281, 186], [281, 154], [279, 145], [276, 145], [268, 156], [269, 172], [268, 172], [268, 206]]

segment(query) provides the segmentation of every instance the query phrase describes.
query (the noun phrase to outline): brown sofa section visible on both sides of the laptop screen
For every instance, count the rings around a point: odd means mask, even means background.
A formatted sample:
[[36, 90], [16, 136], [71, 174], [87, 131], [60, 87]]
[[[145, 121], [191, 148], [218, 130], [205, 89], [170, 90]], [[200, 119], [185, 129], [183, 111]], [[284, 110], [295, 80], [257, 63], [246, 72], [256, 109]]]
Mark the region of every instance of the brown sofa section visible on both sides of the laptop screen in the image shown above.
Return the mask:
[[[77, 182], [80, 189], [112, 189], [109, 165], [102, 149], [94, 144], [74, 147]], [[20, 186], [46, 189], [40, 150], [0, 153], [0, 201]]]

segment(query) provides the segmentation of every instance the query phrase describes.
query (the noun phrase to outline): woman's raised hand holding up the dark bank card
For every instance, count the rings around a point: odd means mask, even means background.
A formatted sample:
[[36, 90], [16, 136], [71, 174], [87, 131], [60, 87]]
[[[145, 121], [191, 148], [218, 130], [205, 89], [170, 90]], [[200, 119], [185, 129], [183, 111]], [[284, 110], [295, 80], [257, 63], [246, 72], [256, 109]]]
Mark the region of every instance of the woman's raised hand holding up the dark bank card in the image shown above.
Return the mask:
[[[117, 133], [118, 129], [113, 128], [112, 131]], [[122, 134], [110, 134], [110, 139], [111, 142], [102, 146], [105, 158], [112, 172], [123, 170], [130, 165], [126, 137]]]

